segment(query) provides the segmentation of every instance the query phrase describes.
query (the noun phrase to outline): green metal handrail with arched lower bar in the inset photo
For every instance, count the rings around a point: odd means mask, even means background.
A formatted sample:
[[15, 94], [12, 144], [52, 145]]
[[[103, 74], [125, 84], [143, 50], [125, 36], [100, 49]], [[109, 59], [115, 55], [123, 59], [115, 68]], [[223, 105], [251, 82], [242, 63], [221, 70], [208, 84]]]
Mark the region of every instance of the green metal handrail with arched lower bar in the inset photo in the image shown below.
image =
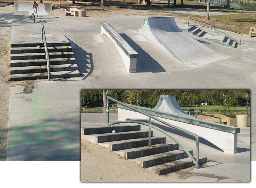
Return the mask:
[[[134, 110], [134, 111], [136, 111], [136, 112], [139, 112], [139, 113], [141, 113], [141, 114], [143, 114], [143, 115], [148, 116], [148, 123], [141, 122], [141, 121], [133, 121], [133, 120], [117, 121], [117, 122], [109, 123], [109, 99], [112, 100], [112, 101], [114, 101], [114, 102], [116, 102], [116, 103], [119, 103], [119, 104], [121, 104], [121, 105], [123, 105], [123, 106], [125, 106], [125, 107], [128, 107], [128, 108], [130, 108], [130, 109], [132, 109], [132, 110]], [[166, 131], [164, 131], [164, 130], [162, 130], [162, 129], [160, 129], [160, 128], [154, 126], [154, 125], [152, 125], [152, 124], [151, 124], [151, 119], [154, 119], [154, 120], [156, 120], [156, 121], [159, 121], [159, 122], [161, 122], [161, 123], [163, 123], [163, 124], [166, 124], [166, 125], [168, 125], [168, 126], [174, 128], [174, 129], [176, 129], [176, 130], [179, 130], [179, 131], [181, 131], [181, 132], [183, 132], [183, 133], [185, 133], [185, 134], [188, 134], [188, 135], [193, 136], [194, 138], [196, 138], [196, 160], [195, 160], [195, 159], [193, 158], [193, 156], [189, 153], [189, 151], [188, 151], [178, 140], [176, 140], [172, 135], [170, 135], [170, 134], [167, 133]], [[167, 122], [165, 122], [165, 121], [162, 121], [161, 119], [158, 119], [158, 118], [156, 118], [156, 117], [154, 117], [154, 116], [152, 116], [152, 115], [149, 115], [149, 114], [147, 114], [147, 113], [144, 113], [144, 112], [142, 112], [142, 111], [140, 111], [140, 110], [138, 110], [138, 109], [136, 109], [136, 108], [134, 108], [134, 107], [132, 107], [132, 106], [129, 106], [129, 105], [127, 105], [126, 103], [122, 103], [122, 102], [120, 102], [120, 101], [118, 101], [118, 100], [115, 100], [115, 99], [113, 99], [113, 98], [107, 96], [107, 126], [114, 125], [114, 124], [119, 124], [119, 123], [138, 123], [138, 124], [143, 124], [143, 125], [148, 126], [148, 147], [151, 147], [151, 127], [152, 127], [152, 128], [155, 128], [156, 130], [161, 131], [162, 133], [164, 133], [164, 134], [166, 134], [167, 136], [169, 136], [172, 140], [174, 140], [174, 141], [187, 153], [187, 155], [190, 157], [190, 159], [192, 160], [192, 162], [195, 164], [196, 168], [199, 168], [199, 136], [198, 136], [198, 135], [196, 135], [196, 134], [194, 134], [194, 133], [191, 133], [191, 132], [189, 132], [189, 131], [187, 131], [187, 130], [183, 130], [183, 129], [181, 129], [181, 128], [178, 128], [178, 127], [176, 127], [176, 126], [174, 126], [174, 125], [172, 125], [172, 124], [170, 124], [170, 123], [167, 123]]]

